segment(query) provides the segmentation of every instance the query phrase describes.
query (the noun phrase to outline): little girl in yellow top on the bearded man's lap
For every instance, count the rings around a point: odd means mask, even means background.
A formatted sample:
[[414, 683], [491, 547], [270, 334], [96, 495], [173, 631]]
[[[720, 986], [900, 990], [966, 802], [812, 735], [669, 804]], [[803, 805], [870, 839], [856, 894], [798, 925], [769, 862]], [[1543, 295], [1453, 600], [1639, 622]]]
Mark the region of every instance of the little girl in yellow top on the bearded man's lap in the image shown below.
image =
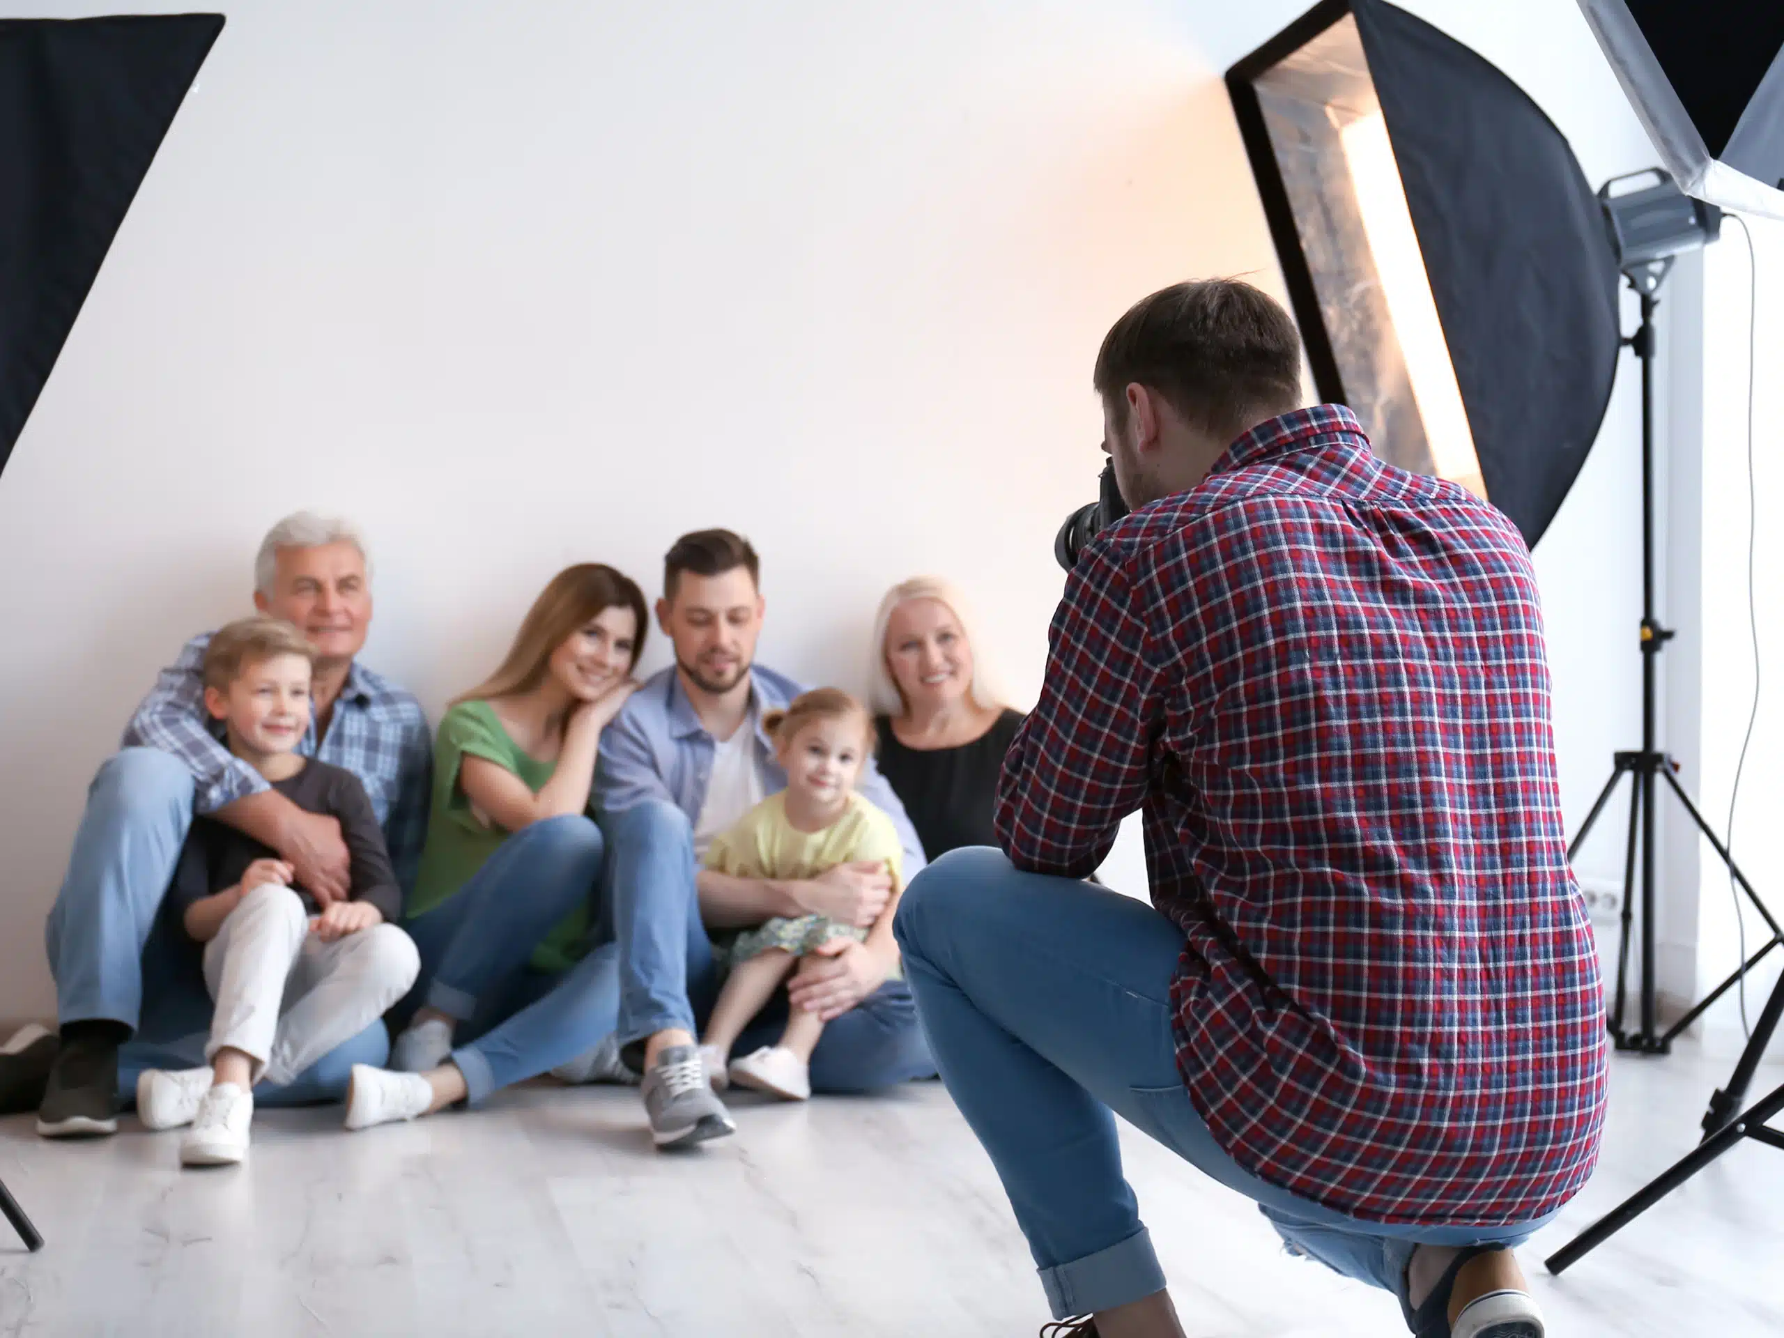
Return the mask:
[[762, 726], [774, 740], [787, 789], [721, 831], [706, 851], [706, 867], [733, 878], [805, 880], [838, 863], [871, 862], [885, 863], [892, 876], [892, 899], [872, 929], [822, 915], [774, 919], [746, 929], [730, 951], [731, 974], [701, 1038], [706, 1070], [715, 1086], [728, 1072], [739, 1086], [805, 1101], [812, 1095], [812, 1051], [824, 1031], [817, 1013], [794, 1008], [778, 1045], [764, 1045], [728, 1070], [724, 1056], [801, 956], [830, 956], [851, 942], [890, 947], [901, 851], [892, 819], [855, 794], [874, 737], [862, 703], [822, 687], [796, 698], [785, 712], [769, 712]]

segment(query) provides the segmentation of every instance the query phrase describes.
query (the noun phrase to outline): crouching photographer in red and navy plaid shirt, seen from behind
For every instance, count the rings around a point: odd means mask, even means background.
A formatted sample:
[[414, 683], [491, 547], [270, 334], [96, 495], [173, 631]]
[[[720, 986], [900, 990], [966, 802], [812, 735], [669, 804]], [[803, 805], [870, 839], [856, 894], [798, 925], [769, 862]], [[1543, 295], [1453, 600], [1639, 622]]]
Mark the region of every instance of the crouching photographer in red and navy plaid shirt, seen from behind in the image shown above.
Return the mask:
[[[1245, 284], [1110, 332], [1135, 510], [1067, 578], [1003, 851], [921, 874], [899, 944], [1061, 1333], [1183, 1333], [1115, 1111], [1422, 1338], [1540, 1338], [1509, 1247], [1591, 1174], [1606, 1056], [1536, 580], [1299, 368]], [[1152, 906], [1078, 881], [1135, 810]]]

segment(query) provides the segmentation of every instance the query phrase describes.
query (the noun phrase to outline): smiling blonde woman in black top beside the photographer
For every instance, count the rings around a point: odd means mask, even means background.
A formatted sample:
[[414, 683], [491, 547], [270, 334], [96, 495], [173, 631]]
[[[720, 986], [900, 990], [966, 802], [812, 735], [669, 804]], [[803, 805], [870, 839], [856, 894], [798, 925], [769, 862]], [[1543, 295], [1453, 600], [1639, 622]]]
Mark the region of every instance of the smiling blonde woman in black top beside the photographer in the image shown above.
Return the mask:
[[960, 591], [937, 576], [894, 585], [874, 619], [880, 771], [929, 860], [997, 844], [997, 774], [1022, 723], [988, 685], [972, 632]]

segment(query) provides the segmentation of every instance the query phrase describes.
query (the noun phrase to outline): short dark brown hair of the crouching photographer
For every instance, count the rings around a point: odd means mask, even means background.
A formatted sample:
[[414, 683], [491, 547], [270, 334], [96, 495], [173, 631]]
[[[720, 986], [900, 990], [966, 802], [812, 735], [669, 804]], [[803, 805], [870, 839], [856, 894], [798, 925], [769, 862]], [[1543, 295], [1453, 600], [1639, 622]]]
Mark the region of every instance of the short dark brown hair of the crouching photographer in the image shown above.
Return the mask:
[[1231, 439], [1301, 407], [1301, 335], [1281, 305], [1238, 278], [1172, 284], [1115, 321], [1094, 382], [1119, 423], [1124, 391], [1138, 382], [1193, 426]]

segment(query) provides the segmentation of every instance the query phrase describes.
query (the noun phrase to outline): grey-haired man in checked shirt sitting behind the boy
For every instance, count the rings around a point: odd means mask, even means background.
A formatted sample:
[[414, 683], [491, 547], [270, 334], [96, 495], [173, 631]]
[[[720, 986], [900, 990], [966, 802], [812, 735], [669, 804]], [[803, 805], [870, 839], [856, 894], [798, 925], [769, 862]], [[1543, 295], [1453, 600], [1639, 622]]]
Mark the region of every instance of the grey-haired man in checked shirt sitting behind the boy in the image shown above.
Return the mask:
[[[298, 751], [359, 776], [407, 892], [426, 835], [428, 723], [407, 690], [355, 658], [371, 623], [366, 546], [351, 524], [298, 512], [266, 535], [253, 576], [255, 607], [296, 624], [316, 648], [312, 721]], [[277, 851], [318, 903], [348, 896], [339, 822], [298, 808], [214, 733], [203, 705], [209, 642], [209, 633], [193, 637], [161, 671], [125, 728], [121, 751], [100, 767], [87, 792], [46, 931], [61, 1035], [30, 1047], [9, 1045], [12, 1054], [0, 1056], [0, 1103], [18, 1108], [41, 1092], [32, 1103], [37, 1133], [50, 1138], [118, 1127], [120, 1049], [127, 1079], [134, 1069], [169, 1063], [169, 1045], [146, 1035], [180, 1035], [164, 1022], [169, 1010], [159, 1004], [166, 1001], [152, 999], [161, 1026], [139, 1022], [145, 974], [152, 978], [148, 994], [157, 995], [153, 967], [175, 951], [173, 937], [155, 935], [155, 947], [146, 954], [143, 949], [194, 814]], [[173, 979], [180, 974], [169, 972]], [[194, 1017], [203, 1026], [202, 1013]], [[341, 1047], [351, 1053], [335, 1056], [339, 1063], [325, 1058], [316, 1069], [339, 1069], [344, 1085], [348, 1063], [382, 1063], [384, 1045], [382, 1022], [375, 1022]], [[328, 1088], [325, 1074], [309, 1074], [282, 1095], [318, 1099], [330, 1095]], [[255, 1095], [264, 1104], [262, 1094]]]

